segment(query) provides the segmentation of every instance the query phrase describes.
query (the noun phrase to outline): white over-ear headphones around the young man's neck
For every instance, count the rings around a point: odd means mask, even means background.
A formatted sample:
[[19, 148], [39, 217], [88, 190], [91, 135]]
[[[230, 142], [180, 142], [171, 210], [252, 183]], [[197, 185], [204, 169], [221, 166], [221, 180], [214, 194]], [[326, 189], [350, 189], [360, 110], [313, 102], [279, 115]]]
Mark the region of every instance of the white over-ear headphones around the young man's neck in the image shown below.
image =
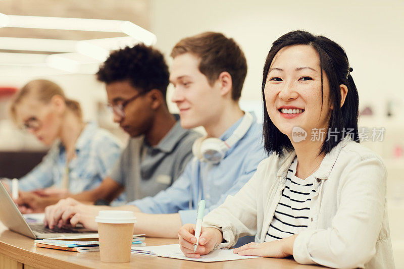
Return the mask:
[[227, 150], [240, 140], [251, 127], [254, 118], [245, 112], [240, 125], [234, 130], [231, 136], [223, 141], [216, 137], [200, 137], [193, 142], [192, 153], [201, 162], [218, 164], [224, 158]]

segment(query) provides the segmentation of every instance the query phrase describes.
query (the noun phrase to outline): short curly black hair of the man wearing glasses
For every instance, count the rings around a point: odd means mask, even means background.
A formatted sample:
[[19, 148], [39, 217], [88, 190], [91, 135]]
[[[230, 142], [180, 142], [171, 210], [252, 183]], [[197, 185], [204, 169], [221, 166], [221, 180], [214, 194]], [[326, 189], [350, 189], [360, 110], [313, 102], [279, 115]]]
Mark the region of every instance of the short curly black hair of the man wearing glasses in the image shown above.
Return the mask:
[[127, 80], [141, 93], [158, 89], [164, 100], [170, 76], [163, 54], [143, 43], [111, 52], [96, 75], [106, 84]]

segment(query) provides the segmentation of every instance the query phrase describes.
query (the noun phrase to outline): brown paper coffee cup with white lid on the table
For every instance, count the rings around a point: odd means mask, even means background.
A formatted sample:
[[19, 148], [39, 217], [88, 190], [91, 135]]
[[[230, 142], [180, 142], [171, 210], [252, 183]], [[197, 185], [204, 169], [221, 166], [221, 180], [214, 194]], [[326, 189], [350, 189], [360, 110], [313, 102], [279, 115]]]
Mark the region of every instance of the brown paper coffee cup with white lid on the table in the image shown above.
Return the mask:
[[132, 211], [103, 210], [98, 224], [99, 255], [103, 262], [129, 262], [136, 217]]

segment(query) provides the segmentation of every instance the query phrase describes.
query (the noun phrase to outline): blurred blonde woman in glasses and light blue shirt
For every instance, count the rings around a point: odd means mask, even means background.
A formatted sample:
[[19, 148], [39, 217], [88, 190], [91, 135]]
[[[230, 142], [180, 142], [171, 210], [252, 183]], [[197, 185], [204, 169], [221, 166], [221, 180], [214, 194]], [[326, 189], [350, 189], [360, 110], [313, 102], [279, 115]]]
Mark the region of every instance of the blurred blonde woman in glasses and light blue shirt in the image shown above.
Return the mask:
[[[42, 162], [19, 180], [21, 191], [35, 190], [41, 196], [62, 198], [92, 189], [120, 155], [119, 141], [95, 123], [85, 123], [80, 104], [67, 98], [52, 81], [28, 82], [16, 94], [10, 112], [19, 127], [43, 144], [52, 145]], [[3, 182], [8, 184], [7, 180]], [[24, 199], [37, 198], [28, 193], [21, 195]], [[20, 209], [24, 211], [23, 206]]]

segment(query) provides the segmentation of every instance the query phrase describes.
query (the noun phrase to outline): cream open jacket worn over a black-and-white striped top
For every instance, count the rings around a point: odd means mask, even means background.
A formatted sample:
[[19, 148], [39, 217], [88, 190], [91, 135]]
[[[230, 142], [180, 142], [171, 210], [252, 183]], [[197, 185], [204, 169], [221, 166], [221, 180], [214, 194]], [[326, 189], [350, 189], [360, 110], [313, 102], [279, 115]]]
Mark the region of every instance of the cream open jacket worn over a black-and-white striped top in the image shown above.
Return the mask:
[[[245, 235], [265, 241], [294, 157], [293, 151], [264, 159], [237, 194], [204, 218], [203, 226], [223, 232], [225, 242], [218, 248], [231, 247]], [[294, 241], [294, 259], [335, 268], [394, 268], [382, 159], [347, 136], [326, 154], [314, 176], [309, 226]]]

